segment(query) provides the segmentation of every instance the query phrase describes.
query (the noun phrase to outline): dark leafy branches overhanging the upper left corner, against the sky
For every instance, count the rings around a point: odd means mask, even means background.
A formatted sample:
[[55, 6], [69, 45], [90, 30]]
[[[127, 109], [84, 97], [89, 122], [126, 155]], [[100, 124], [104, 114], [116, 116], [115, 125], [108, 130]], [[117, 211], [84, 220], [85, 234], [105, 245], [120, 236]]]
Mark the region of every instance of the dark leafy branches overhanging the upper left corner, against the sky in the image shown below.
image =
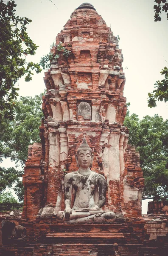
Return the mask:
[[0, 0], [0, 122], [14, 118], [18, 79], [25, 76], [25, 81], [30, 81], [32, 70], [42, 71], [39, 64], [26, 61], [26, 56], [34, 55], [38, 46], [26, 32], [31, 20], [17, 16], [16, 6], [14, 1]]

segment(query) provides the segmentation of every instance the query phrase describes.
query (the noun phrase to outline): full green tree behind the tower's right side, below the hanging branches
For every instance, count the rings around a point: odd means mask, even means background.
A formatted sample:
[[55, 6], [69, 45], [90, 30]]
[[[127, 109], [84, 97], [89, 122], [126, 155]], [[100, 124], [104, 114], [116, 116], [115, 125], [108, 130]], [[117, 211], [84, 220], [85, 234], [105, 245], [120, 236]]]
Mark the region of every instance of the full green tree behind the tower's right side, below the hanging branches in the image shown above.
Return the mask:
[[161, 116], [128, 115], [124, 125], [129, 128], [129, 144], [140, 152], [140, 165], [145, 178], [144, 198], [168, 197], [168, 120]]

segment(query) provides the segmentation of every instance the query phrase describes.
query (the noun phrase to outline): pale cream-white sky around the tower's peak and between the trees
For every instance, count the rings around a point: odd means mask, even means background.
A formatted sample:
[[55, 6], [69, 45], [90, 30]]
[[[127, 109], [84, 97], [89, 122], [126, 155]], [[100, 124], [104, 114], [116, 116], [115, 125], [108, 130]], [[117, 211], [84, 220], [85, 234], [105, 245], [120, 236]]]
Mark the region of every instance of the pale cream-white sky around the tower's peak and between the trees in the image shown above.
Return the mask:
[[[39, 48], [30, 60], [39, 62], [48, 54], [56, 35], [70, 19], [70, 14], [84, 1], [81, 0], [15, 0], [17, 15], [28, 17], [28, 35]], [[124, 96], [131, 103], [130, 113], [140, 119], [158, 113], [168, 118], [168, 103], [158, 102], [156, 108], [148, 108], [148, 92], [154, 83], [164, 77], [160, 71], [168, 66], [168, 20], [165, 14], [161, 22], [154, 22], [154, 0], [89, 0], [115, 36], [119, 35], [119, 48], [123, 52], [123, 68], [126, 68]], [[28, 58], [29, 60], [29, 58]], [[166, 62], [167, 61], [167, 62]], [[20, 95], [35, 96], [44, 92], [44, 72], [34, 75], [33, 81], [21, 79]], [[145, 204], [145, 202], [143, 202]], [[146, 207], [143, 207], [146, 213]]]

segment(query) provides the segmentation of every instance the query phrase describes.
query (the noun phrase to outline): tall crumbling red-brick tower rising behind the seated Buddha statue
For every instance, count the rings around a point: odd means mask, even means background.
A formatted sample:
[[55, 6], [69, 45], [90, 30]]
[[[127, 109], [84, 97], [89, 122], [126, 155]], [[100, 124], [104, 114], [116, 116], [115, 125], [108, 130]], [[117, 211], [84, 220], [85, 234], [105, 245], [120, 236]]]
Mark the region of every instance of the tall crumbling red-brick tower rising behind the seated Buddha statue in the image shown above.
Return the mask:
[[[70, 51], [67, 56], [64, 48], [58, 50], [60, 44]], [[56, 37], [51, 52], [59, 59], [51, 62], [44, 78], [47, 93], [42, 104], [45, 121], [40, 127], [44, 154], [38, 163], [39, 168], [43, 164], [38, 181], [42, 186], [37, 196], [42, 198], [41, 202], [38, 199], [39, 209], [55, 207], [60, 194], [64, 210], [64, 173], [77, 170], [75, 153], [85, 135], [95, 156], [92, 171], [103, 174], [108, 183], [104, 209], [140, 217], [143, 173], [135, 150], [127, 147], [128, 134], [123, 126], [127, 107], [118, 39], [94, 8], [79, 8]], [[32, 169], [35, 159], [32, 154], [24, 175], [24, 215], [29, 218], [35, 218], [39, 211], [33, 199], [33, 193], [38, 193], [35, 173], [28, 185], [28, 168]], [[28, 213], [31, 204], [36, 209], [32, 216]]]

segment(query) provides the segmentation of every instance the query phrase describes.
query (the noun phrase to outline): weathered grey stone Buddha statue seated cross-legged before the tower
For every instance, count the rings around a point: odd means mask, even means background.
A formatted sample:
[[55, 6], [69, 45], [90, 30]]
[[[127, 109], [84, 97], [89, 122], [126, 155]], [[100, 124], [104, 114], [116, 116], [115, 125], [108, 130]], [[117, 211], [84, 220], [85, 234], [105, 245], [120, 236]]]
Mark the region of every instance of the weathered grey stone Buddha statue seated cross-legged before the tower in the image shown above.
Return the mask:
[[[105, 212], [102, 207], [106, 201], [106, 179], [103, 175], [92, 172], [93, 154], [84, 137], [79, 146], [76, 161], [77, 172], [70, 172], [64, 177], [65, 209], [56, 213], [57, 221], [78, 222], [112, 222], [114, 212]], [[71, 198], [75, 190], [75, 200], [71, 209]]]

